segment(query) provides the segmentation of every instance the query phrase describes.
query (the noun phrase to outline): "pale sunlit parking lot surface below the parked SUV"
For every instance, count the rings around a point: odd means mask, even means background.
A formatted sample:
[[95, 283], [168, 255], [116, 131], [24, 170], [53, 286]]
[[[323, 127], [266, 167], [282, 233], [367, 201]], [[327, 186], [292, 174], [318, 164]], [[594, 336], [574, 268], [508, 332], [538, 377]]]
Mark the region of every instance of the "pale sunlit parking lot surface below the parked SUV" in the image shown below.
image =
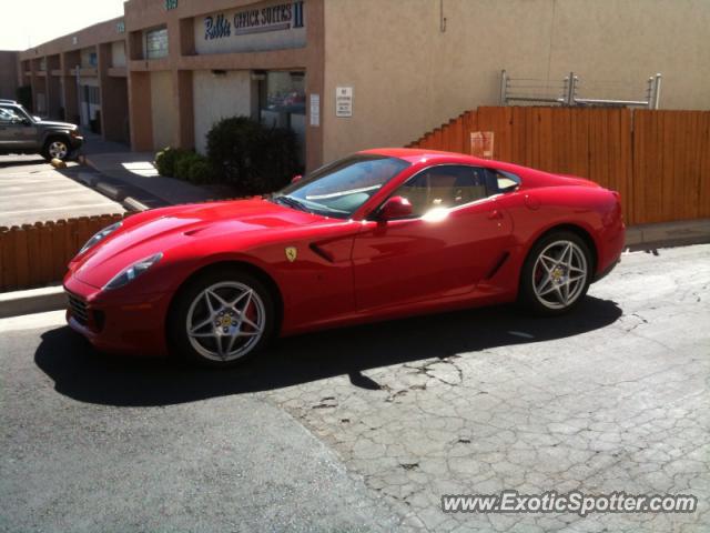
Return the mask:
[[80, 172], [87, 169], [73, 162], [57, 170], [40, 155], [0, 155], [0, 225], [124, 211], [74, 181]]

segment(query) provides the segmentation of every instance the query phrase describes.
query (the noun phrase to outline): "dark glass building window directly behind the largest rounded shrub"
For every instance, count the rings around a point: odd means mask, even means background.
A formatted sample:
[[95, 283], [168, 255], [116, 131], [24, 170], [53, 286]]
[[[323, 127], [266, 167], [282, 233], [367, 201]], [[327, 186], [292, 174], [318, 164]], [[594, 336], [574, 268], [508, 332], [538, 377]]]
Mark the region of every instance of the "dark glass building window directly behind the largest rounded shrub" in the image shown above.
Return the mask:
[[263, 124], [296, 134], [301, 163], [305, 159], [306, 92], [304, 72], [266, 72], [258, 82], [258, 118]]

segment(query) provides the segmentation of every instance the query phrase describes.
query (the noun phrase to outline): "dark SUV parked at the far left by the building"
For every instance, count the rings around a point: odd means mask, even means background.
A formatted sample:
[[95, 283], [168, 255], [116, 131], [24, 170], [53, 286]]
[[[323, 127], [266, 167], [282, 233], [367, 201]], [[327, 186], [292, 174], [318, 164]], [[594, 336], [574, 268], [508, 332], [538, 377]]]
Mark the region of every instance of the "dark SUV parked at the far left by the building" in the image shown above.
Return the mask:
[[0, 154], [40, 153], [68, 159], [83, 143], [77, 124], [42, 120], [13, 100], [0, 100]]

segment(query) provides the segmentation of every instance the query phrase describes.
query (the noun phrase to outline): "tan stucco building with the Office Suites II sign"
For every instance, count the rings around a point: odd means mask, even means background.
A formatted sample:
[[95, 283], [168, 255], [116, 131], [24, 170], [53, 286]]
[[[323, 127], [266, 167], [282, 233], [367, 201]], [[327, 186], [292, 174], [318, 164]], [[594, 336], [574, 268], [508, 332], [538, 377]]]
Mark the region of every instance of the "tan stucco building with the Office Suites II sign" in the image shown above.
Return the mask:
[[707, 0], [130, 0], [21, 52], [20, 77], [36, 112], [99, 112], [134, 150], [204, 150], [216, 120], [248, 114], [292, 128], [312, 169], [497, 104], [501, 69], [625, 97], [661, 72], [662, 108], [708, 109], [709, 27]]

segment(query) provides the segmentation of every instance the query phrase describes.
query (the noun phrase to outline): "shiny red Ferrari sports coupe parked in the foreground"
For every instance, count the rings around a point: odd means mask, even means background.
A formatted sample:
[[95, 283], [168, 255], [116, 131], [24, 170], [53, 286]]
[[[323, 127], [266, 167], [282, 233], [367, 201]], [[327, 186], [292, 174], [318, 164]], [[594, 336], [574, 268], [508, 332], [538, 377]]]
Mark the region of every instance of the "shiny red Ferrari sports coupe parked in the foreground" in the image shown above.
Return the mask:
[[619, 261], [619, 200], [462, 154], [359, 152], [270, 197], [102, 230], [69, 265], [68, 320], [100, 349], [221, 366], [336, 325], [516, 300], [559, 314]]

